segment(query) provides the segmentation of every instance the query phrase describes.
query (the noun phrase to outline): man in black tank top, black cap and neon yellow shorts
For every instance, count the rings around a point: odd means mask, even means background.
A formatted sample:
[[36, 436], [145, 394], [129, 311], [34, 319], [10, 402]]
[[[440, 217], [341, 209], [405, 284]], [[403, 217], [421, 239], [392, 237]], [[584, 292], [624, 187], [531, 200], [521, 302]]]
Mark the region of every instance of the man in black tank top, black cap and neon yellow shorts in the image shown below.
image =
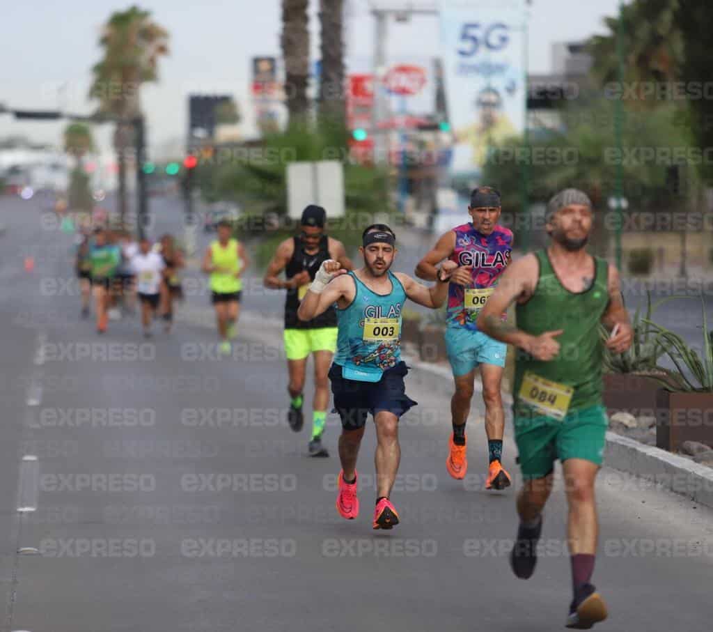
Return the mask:
[[[310, 204], [302, 212], [300, 233], [284, 240], [265, 272], [265, 285], [287, 290], [284, 301], [284, 351], [289, 372], [289, 427], [299, 432], [304, 424], [302, 403], [307, 359], [314, 357], [314, 399], [312, 401], [312, 439], [309, 454], [328, 457], [322, 445], [322, 432], [327, 419], [329, 382], [327, 372], [337, 348], [337, 315], [333, 308], [319, 317], [303, 322], [297, 317], [299, 301], [307, 294], [319, 266], [328, 259], [339, 262], [344, 270], [352, 270], [344, 244], [324, 233], [327, 212]], [[286, 280], [279, 278], [284, 270]]]

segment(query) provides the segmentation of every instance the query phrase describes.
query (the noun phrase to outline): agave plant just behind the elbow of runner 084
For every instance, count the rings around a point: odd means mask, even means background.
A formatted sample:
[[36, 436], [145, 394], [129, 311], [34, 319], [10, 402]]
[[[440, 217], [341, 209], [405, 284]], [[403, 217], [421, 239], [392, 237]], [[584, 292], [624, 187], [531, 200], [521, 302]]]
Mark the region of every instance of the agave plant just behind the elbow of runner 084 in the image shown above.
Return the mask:
[[[663, 302], [670, 300], [665, 298], [651, 304], [651, 294], [646, 292], [646, 312], [645, 317], [641, 315], [641, 308], [637, 307], [632, 319], [632, 329], [634, 338], [631, 347], [624, 353], [614, 353], [604, 348], [603, 362], [607, 373], [644, 373], [660, 370], [657, 367], [659, 358], [665, 354], [666, 347], [662, 345], [655, 335], [655, 330], [650, 326], [651, 315]], [[610, 333], [603, 326], [600, 326], [602, 342], [606, 342]]]

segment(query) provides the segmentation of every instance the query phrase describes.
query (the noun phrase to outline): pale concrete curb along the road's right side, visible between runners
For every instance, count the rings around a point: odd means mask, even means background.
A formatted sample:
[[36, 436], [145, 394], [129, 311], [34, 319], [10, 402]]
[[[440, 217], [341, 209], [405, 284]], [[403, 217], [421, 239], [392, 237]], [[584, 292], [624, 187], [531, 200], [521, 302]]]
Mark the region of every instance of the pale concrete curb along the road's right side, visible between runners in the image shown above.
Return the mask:
[[[204, 312], [206, 308], [199, 308]], [[205, 318], [205, 324], [213, 327], [212, 310], [207, 308], [210, 318]], [[193, 320], [193, 319], [188, 319]], [[201, 319], [202, 320], [202, 319]], [[259, 324], [262, 329], [275, 327], [282, 330], [282, 320], [274, 317], [265, 317], [260, 312], [245, 310], [240, 315], [240, 320]], [[194, 323], [198, 324], [198, 323]], [[203, 324], [203, 323], [200, 323]], [[404, 354], [404, 360], [409, 366], [420, 371], [428, 372], [436, 377], [452, 383], [451, 370], [446, 366], [432, 365], [423, 362], [417, 357]], [[476, 392], [482, 392], [483, 387], [479, 380], [475, 384]], [[511, 405], [513, 398], [508, 393], [503, 393], [503, 403]], [[639, 476], [659, 484], [664, 489], [682, 494], [692, 501], [713, 508], [713, 469], [698, 464], [677, 454], [671, 454], [657, 447], [648, 446], [640, 442], [622, 437], [615, 432], [607, 431], [604, 455], [605, 467]]]

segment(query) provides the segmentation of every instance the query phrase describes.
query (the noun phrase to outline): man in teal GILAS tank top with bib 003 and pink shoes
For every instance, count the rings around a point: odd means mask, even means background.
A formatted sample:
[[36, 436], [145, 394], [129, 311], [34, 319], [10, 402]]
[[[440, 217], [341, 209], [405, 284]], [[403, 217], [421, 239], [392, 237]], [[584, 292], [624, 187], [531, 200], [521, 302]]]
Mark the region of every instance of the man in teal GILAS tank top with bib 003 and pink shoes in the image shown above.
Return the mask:
[[334, 409], [342, 419], [337, 511], [348, 520], [359, 515], [356, 457], [366, 415], [371, 413], [377, 441], [374, 529], [399, 524], [399, 514], [389, 500], [401, 455], [398, 424], [399, 417], [416, 404], [404, 386], [408, 367], [401, 360], [401, 311], [406, 298], [425, 307], [441, 307], [448, 278], [457, 267], [446, 261], [438, 270], [436, 285], [424, 287], [408, 275], [389, 271], [395, 243], [394, 231], [385, 224], [366, 228], [359, 248], [364, 267], [347, 274], [336, 261], [324, 261], [297, 310], [300, 320], [312, 320], [336, 304], [337, 353], [329, 379]]

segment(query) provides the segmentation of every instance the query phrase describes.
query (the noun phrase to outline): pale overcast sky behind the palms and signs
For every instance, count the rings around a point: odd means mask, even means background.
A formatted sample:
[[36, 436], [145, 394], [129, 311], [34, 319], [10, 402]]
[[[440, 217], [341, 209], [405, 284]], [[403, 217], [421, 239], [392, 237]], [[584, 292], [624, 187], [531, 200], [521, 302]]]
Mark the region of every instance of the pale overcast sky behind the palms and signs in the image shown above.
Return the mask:
[[[372, 51], [373, 19], [369, 1], [346, 0], [347, 67], [362, 70]], [[143, 0], [142, 8], [170, 32], [170, 56], [160, 62], [160, 83], [146, 86], [142, 99], [148, 116], [149, 141], [161, 151], [180, 141], [188, 119], [186, 95], [231, 93], [245, 114], [250, 133], [248, 89], [250, 58], [279, 55], [280, 0]], [[378, 4], [383, 5], [384, 0]], [[391, 0], [389, 6], [404, 6]], [[412, 5], [429, 4], [416, 0]], [[435, 4], [435, 3], [430, 3]], [[530, 8], [530, 73], [550, 71], [550, 46], [604, 32], [602, 19], [617, 11], [618, 0], [533, 0]], [[318, 58], [318, 0], [310, 0], [312, 59]], [[0, 103], [14, 108], [91, 111], [86, 100], [90, 69], [98, 61], [98, 35], [112, 13], [128, 6], [116, 0], [23, 0], [6, 2], [0, 37]], [[438, 54], [438, 20], [414, 17], [409, 24], [389, 26], [387, 53], [399, 60]], [[64, 86], [61, 88], [61, 86]], [[0, 137], [24, 134], [33, 141], [58, 143], [60, 123], [21, 123], [0, 115]], [[96, 131], [108, 146], [108, 126]]]

